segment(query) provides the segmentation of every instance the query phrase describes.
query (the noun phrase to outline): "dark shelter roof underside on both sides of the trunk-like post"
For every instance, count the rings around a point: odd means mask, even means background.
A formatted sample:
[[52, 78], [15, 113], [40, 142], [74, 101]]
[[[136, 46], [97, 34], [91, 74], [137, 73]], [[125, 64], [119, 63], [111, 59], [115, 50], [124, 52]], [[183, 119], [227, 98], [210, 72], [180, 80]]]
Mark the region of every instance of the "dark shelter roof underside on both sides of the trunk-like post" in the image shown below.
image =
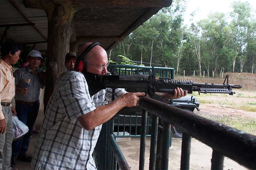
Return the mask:
[[[161, 8], [170, 6], [172, 0], [83, 0], [75, 5], [86, 8], [76, 12], [72, 23], [76, 40], [99, 41], [108, 50], [142, 25]], [[87, 5], [88, 4], [88, 5]], [[30, 23], [31, 26], [9, 24]], [[34, 24], [34, 25], [33, 25]], [[25, 8], [22, 0], [0, 1], [0, 35], [38, 49], [47, 51], [47, 16], [43, 10]], [[74, 38], [74, 37], [73, 37]]]

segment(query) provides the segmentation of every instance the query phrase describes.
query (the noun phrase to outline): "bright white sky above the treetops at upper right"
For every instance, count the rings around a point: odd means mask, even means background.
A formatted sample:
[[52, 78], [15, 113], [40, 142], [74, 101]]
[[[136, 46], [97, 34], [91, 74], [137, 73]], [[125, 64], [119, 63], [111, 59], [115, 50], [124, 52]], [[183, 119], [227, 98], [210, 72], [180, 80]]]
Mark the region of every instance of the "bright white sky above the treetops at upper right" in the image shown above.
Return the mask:
[[[174, 2], [175, 0], [173, 0]], [[252, 6], [252, 11], [256, 12], [256, 0], [240, 0], [241, 2], [249, 2]], [[229, 17], [229, 12], [232, 11], [231, 3], [233, 0], [187, 0], [187, 10], [184, 15], [184, 24], [190, 25], [189, 21], [192, 17], [190, 14], [195, 11], [194, 22], [207, 18], [209, 13], [223, 12]], [[256, 16], [255, 16], [256, 17]]]

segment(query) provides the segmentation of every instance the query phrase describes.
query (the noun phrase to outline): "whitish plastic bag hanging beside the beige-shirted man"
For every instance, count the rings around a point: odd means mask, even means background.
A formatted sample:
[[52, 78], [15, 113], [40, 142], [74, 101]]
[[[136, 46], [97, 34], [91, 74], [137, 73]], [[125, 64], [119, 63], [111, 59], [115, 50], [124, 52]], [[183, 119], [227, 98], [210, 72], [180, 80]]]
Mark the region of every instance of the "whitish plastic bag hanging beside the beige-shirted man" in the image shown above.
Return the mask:
[[17, 116], [12, 116], [13, 139], [28, 133], [28, 126], [21, 122]]

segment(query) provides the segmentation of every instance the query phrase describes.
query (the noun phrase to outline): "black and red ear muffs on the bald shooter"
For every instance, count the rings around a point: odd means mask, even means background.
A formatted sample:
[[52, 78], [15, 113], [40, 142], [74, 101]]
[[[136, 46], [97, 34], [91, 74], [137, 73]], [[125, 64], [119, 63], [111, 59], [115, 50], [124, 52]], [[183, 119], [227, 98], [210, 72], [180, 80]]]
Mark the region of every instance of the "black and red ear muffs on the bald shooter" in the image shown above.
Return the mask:
[[84, 51], [81, 55], [79, 55], [77, 58], [76, 58], [76, 65], [75, 65], [75, 70], [76, 71], [80, 71], [80, 72], [83, 72], [85, 73], [86, 71], [86, 61], [84, 59], [84, 56], [86, 54], [89, 53], [89, 51], [91, 51], [91, 49], [95, 46], [101, 46], [99, 42], [94, 42], [92, 44], [90, 44]]

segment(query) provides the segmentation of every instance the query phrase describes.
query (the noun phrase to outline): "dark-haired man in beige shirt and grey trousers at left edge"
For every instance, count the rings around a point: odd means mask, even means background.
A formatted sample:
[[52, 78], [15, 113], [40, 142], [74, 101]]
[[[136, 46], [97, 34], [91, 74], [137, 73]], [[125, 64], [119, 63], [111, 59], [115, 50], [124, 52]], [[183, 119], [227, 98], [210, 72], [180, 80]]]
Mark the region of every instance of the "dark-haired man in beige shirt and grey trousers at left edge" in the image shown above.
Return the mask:
[[11, 169], [12, 156], [12, 115], [15, 115], [11, 100], [15, 94], [14, 78], [11, 64], [17, 63], [20, 55], [20, 46], [13, 43], [4, 43], [1, 48], [0, 59], [0, 170]]

